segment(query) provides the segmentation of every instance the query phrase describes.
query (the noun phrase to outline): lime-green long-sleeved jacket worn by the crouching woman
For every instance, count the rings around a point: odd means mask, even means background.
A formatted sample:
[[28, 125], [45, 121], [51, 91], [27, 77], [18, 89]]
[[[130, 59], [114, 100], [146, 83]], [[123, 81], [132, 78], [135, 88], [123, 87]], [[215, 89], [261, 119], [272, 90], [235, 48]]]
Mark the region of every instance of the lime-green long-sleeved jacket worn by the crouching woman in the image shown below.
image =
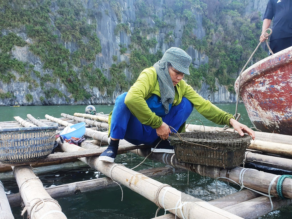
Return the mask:
[[[160, 96], [160, 89], [157, 80], [157, 74], [154, 67], [144, 69], [137, 81], [131, 86], [128, 91], [125, 104], [130, 109], [131, 113], [144, 125], [152, 128], [159, 128], [162, 124], [161, 117], [157, 116], [148, 107], [146, 100], [152, 94]], [[175, 86], [175, 98], [173, 106], [180, 104], [182, 98], [185, 97], [202, 114], [206, 119], [209, 119], [219, 125], [229, 125], [230, 118], [234, 118], [232, 114], [224, 112], [209, 100], [202, 98], [194, 89], [184, 80], [181, 80]], [[109, 133], [112, 112], [109, 114]]]

